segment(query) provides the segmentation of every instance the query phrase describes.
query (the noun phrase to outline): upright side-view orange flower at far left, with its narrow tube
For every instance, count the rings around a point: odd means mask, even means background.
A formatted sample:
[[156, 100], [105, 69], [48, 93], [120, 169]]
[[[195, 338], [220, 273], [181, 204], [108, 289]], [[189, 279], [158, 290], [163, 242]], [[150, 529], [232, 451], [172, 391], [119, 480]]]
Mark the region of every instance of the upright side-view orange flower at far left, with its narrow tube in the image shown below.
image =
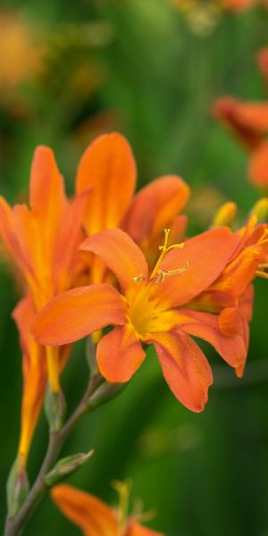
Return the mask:
[[[87, 193], [68, 202], [63, 178], [48, 147], [36, 149], [29, 186], [29, 208], [11, 208], [0, 197], [0, 232], [31, 293], [36, 311], [58, 292], [69, 289], [79, 269], [78, 247]], [[53, 392], [59, 390], [59, 349], [47, 348]]]

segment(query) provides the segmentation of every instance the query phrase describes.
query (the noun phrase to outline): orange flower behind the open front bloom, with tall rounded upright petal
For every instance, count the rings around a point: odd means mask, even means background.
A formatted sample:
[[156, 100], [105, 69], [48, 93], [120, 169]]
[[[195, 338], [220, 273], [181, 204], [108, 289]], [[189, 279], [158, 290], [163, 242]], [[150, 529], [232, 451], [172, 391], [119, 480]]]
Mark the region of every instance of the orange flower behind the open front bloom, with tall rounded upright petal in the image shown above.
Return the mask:
[[[185, 216], [177, 216], [189, 197], [187, 184], [176, 175], [153, 180], [133, 198], [137, 180], [134, 156], [126, 138], [117, 132], [99, 136], [82, 155], [77, 172], [78, 194], [91, 188], [85, 216], [88, 235], [121, 227], [154, 256], [164, 227], [172, 239], [184, 234]], [[151, 259], [154, 260], [154, 259]], [[91, 281], [105, 281], [104, 264], [91, 263]]]

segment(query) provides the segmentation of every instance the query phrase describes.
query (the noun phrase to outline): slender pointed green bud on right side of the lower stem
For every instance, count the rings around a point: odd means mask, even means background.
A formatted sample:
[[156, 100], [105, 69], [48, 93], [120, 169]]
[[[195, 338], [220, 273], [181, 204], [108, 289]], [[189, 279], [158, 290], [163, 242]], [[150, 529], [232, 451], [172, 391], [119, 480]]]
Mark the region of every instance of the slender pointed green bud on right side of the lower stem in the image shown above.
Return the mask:
[[78, 453], [71, 456], [66, 456], [54, 465], [54, 468], [46, 474], [45, 482], [47, 486], [54, 486], [66, 476], [77, 471], [81, 465], [84, 465], [93, 455], [94, 450], [89, 450], [88, 454]]

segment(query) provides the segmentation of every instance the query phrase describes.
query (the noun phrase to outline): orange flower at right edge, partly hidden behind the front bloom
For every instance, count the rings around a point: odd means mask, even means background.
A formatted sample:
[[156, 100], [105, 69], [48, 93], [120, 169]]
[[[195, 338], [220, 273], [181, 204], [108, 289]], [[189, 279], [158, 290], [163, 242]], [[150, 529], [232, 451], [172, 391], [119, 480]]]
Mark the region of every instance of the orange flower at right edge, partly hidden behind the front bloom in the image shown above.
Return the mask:
[[[193, 324], [184, 326], [184, 330], [197, 337], [200, 326], [195, 322], [207, 322], [207, 314], [218, 314], [218, 325], [226, 336], [241, 336], [245, 340], [246, 349], [249, 342], [248, 323], [252, 318], [254, 289], [252, 281], [256, 276], [268, 278], [267, 225], [255, 226], [255, 216], [252, 216], [245, 229], [239, 230], [239, 247], [230, 258], [220, 277], [197, 296], [188, 307], [199, 309], [190, 312]], [[246, 360], [236, 366], [239, 377], [243, 375]]]

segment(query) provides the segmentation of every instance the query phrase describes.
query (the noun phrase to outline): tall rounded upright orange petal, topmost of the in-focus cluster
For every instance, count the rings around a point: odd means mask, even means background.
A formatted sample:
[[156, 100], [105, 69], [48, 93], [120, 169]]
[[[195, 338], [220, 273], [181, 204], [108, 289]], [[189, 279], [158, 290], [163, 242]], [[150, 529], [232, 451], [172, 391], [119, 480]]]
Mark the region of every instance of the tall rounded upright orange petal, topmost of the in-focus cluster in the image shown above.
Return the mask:
[[126, 138], [116, 132], [96, 138], [78, 168], [78, 192], [92, 188], [85, 225], [88, 234], [119, 227], [136, 185], [136, 163]]

